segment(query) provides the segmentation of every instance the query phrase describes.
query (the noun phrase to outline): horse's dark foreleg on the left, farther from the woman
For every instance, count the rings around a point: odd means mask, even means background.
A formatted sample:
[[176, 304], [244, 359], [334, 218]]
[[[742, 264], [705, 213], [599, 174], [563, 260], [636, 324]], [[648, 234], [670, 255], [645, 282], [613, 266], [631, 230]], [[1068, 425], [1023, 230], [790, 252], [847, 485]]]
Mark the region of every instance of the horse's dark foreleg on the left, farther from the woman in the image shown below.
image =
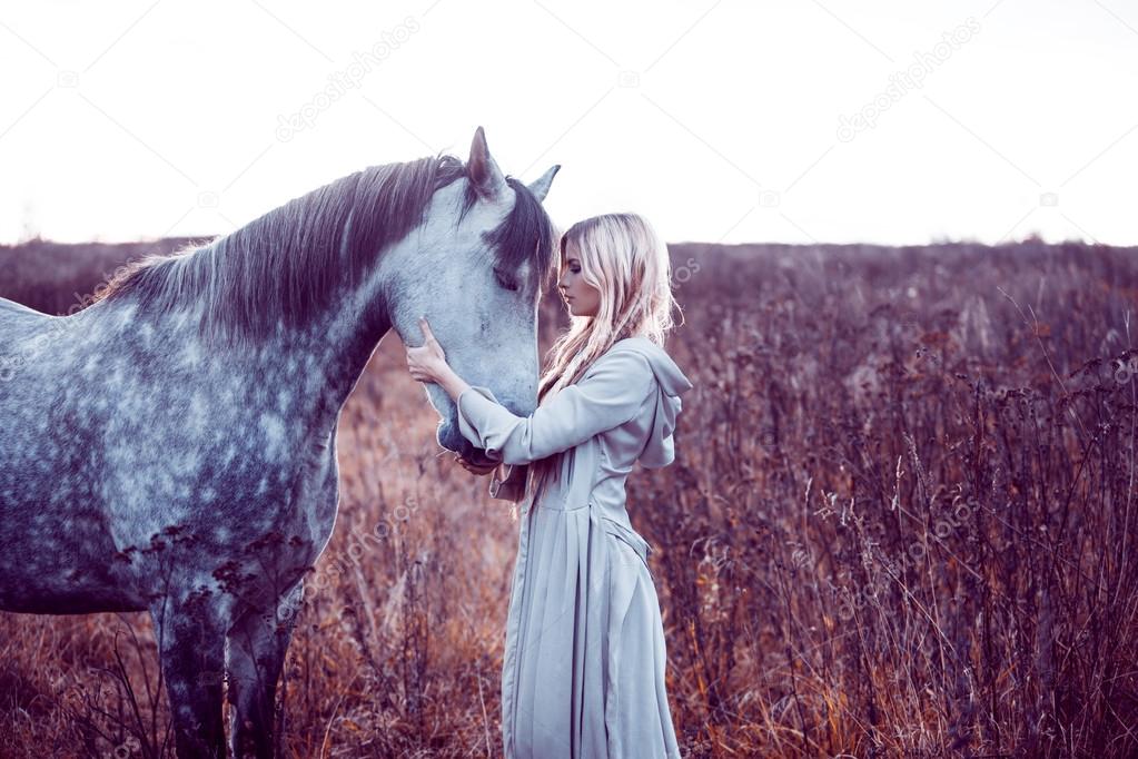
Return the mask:
[[157, 601], [150, 614], [179, 759], [225, 759], [221, 713], [224, 624], [208, 607], [181, 604], [170, 597]]

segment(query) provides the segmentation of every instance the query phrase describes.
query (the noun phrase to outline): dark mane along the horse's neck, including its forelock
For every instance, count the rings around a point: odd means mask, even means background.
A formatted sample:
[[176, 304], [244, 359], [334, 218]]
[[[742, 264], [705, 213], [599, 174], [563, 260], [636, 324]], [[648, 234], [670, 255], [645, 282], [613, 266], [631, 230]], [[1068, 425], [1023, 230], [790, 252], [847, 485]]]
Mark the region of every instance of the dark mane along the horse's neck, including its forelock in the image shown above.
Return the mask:
[[[233, 232], [170, 255], [121, 267], [94, 300], [137, 298], [148, 313], [204, 305], [199, 335], [207, 341], [262, 340], [278, 319], [312, 321], [341, 288], [354, 288], [380, 251], [422, 222], [431, 196], [465, 178], [451, 155], [369, 166], [270, 211]], [[512, 176], [510, 215], [487, 236], [495, 266], [514, 272], [534, 263], [538, 295], [555, 271], [553, 228], [541, 201]], [[471, 184], [459, 220], [477, 201]]]

